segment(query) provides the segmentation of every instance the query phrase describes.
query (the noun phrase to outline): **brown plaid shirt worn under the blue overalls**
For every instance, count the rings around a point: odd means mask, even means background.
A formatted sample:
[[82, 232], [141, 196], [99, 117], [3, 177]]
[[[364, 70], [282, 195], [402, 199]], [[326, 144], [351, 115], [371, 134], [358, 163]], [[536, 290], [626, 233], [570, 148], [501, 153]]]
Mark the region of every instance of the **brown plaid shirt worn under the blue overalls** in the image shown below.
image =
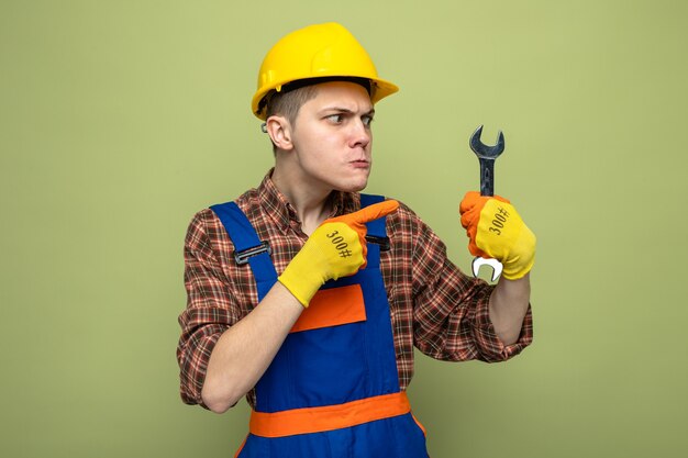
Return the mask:
[[[308, 236], [301, 231], [295, 209], [269, 176], [236, 203], [258, 237], [269, 242], [279, 275]], [[360, 206], [356, 193], [333, 192], [330, 199], [333, 216]], [[519, 340], [502, 345], [488, 314], [492, 287], [459, 271], [447, 259], [442, 241], [404, 204], [387, 216], [387, 235], [391, 249], [381, 252], [380, 267], [402, 390], [413, 376], [413, 347], [442, 360], [495, 362], [518, 355], [532, 342], [529, 310]], [[258, 293], [249, 266], [236, 265], [232, 242], [211, 210], [193, 216], [184, 254], [188, 301], [179, 316], [181, 337], [177, 348], [181, 399], [203, 405], [201, 388], [210, 354], [220, 335], [257, 305]], [[254, 390], [247, 400], [255, 405]]]

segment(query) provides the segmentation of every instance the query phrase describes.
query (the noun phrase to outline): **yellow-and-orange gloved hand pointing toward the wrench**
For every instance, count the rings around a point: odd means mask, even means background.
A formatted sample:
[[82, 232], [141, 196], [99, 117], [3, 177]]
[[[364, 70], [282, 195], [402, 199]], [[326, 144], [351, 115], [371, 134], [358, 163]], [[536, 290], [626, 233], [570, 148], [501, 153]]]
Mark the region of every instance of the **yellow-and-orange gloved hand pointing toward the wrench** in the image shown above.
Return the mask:
[[303, 306], [328, 280], [356, 273], [366, 266], [365, 223], [386, 216], [399, 208], [386, 200], [357, 212], [325, 220], [278, 277]]

